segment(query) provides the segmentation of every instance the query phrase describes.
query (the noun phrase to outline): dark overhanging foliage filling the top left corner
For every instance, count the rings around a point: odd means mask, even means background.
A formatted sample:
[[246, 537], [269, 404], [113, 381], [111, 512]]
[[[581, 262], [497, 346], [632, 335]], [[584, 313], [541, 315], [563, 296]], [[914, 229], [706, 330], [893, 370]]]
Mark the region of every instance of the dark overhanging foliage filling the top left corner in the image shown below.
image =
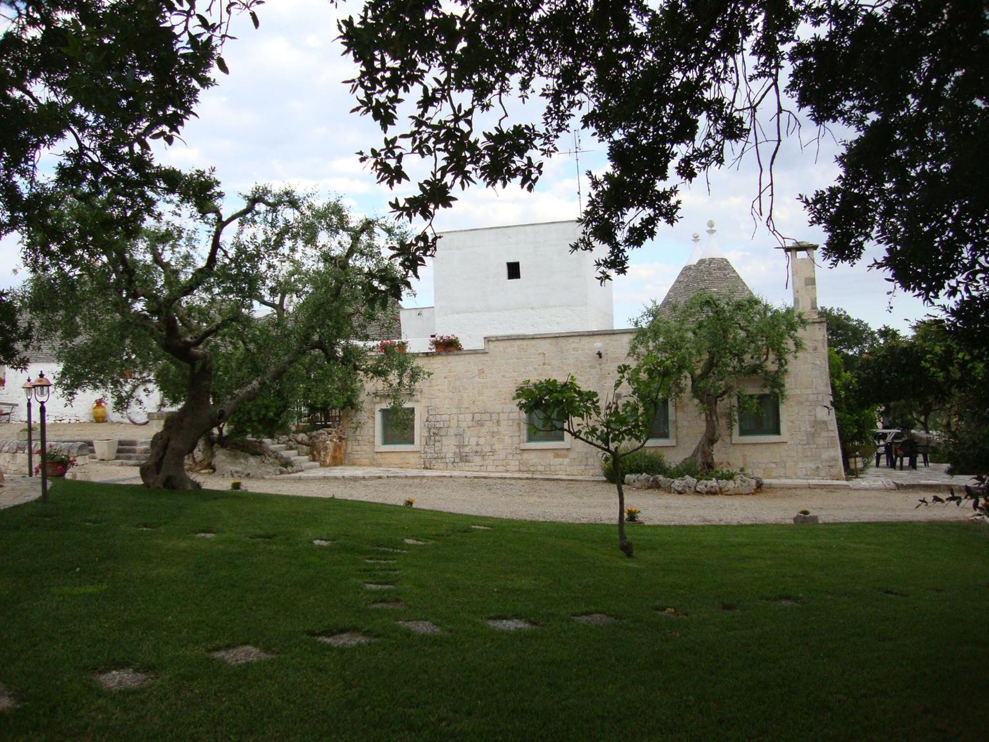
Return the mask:
[[[194, 115], [233, 15], [260, 0], [46, 0], [3, 3], [0, 234], [47, 234], [29, 267], [81, 249], [59, 238], [64, 193], [102, 205], [101, 232], [134, 238], [167, 196], [201, 210], [223, 194], [209, 173], [158, 164]], [[198, 7], [197, 7], [198, 5]], [[49, 165], [54, 165], [53, 167]], [[213, 207], [215, 208], [215, 207]]]

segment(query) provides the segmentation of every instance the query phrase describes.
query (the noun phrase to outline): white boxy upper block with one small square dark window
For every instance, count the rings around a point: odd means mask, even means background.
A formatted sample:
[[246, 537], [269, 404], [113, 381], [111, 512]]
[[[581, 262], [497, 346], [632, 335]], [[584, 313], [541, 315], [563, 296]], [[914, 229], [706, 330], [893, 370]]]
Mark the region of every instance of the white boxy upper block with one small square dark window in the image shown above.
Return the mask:
[[454, 334], [485, 337], [613, 327], [611, 283], [594, 277], [596, 251], [570, 252], [576, 221], [443, 232], [433, 258], [433, 306], [402, 310], [409, 350]]

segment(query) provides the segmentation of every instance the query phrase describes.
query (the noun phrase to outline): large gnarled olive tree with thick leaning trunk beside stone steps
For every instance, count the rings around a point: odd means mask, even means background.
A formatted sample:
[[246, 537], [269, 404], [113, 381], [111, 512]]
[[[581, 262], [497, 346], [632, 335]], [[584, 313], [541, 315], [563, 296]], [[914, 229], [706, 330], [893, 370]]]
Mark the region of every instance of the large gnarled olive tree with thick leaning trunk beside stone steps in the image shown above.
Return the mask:
[[382, 254], [394, 226], [338, 200], [256, 188], [230, 214], [171, 203], [173, 219], [130, 240], [65, 203], [55, 227], [81, 249], [36, 268], [32, 312], [56, 341], [69, 393], [109, 388], [126, 402], [158, 383], [179, 404], [140, 468], [147, 487], [196, 487], [184, 461], [200, 437], [294, 375], [337, 385], [334, 399], [351, 405], [364, 380], [398, 404], [421, 376], [410, 357], [360, 341], [407, 285]]

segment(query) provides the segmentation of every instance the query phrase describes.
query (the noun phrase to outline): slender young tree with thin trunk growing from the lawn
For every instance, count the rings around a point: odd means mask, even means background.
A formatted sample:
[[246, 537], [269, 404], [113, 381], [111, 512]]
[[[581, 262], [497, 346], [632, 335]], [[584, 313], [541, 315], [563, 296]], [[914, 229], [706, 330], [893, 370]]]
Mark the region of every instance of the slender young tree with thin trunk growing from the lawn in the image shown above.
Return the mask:
[[647, 355], [635, 365], [618, 367], [614, 389], [603, 403], [597, 392], [584, 389], [573, 376], [567, 381], [526, 380], [515, 390], [518, 409], [526, 415], [538, 412], [543, 429], [564, 430], [611, 457], [618, 489], [618, 548], [628, 556], [632, 556], [632, 542], [625, 537], [621, 460], [646, 444], [653, 419], [670, 397], [675, 378], [666, 359]]

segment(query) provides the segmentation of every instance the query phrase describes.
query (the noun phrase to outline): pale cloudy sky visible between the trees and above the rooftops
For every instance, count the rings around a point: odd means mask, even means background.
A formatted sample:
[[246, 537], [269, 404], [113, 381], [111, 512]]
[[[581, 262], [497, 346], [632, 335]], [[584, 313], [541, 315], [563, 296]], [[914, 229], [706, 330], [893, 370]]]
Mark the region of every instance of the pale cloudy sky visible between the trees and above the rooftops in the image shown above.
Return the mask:
[[[194, 119], [176, 142], [161, 152], [164, 161], [183, 167], [215, 166], [228, 194], [246, 191], [254, 183], [289, 183], [336, 193], [356, 210], [384, 215], [395, 194], [378, 186], [354, 154], [375, 146], [380, 130], [367, 118], [348, 114], [354, 107], [342, 80], [354, 68], [334, 41], [336, 20], [356, 12], [358, 4], [334, 8], [328, 0], [278, 0], [259, 9], [261, 28], [241, 19], [233, 29], [236, 41], [224, 56], [229, 76], [207, 91]], [[804, 139], [813, 132], [803, 130]], [[603, 151], [584, 136], [580, 169], [601, 170]], [[776, 169], [775, 222], [787, 236], [823, 242], [824, 234], [807, 226], [797, 203], [800, 193], [833, 182], [837, 144], [801, 149], [790, 139]], [[661, 300], [690, 253], [690, 237], [700, 232], [702, 244], [708, 220], [714, 220], [718, 246], [736, 269], [764, 298], [789, 303], [783, 254], [775, 238], [754, 222], [750, 205], [758, 189], [753, 158], [739, 168], [711, 174], [682, 191], [681, 220], [632, 255], [627, 276], [614, 283], [615, 325], [627, 326], [652, 300]], [[586, 182], [582, 181], [584, 194]], [[578, 163], [560, 156], [549, 163], [535, 193], [472, 189], [436, 221], [442, 230], [494, 227], [576, 219]], [[0, 286], [13, 286], [18, 247], [13, 239], [0, 244]], [[927, 314], [923, 304], [893, 285], [884, 274], [868, 270], [869, 259], [855, 266], [818, 268], [818, 299], [822, 306], [842, 307], [870, 325], [906, 328]], [[430, 271], [423, 271], [417, 295], [406, 306], [432, 303]]]

